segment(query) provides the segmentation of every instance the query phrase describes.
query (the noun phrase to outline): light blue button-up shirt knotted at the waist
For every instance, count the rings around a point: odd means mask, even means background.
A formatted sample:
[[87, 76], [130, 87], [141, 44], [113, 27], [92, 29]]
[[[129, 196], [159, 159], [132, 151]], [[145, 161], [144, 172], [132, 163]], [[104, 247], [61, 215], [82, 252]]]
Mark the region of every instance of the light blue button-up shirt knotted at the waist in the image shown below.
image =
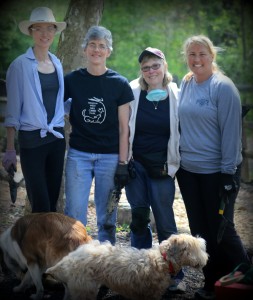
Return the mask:
[[55, 66], [59, 80], [55, 115], [47, 124], [47, 112], [43, 104], [41, 84], [38, 74], [38, 61], [32, 48], [17, 57], [9, 66], [6, 75], [7, 107], [5, 127], [32, 131], [40, 129], [43, 138], [51, 132], [57, 138], [63, 135], [54, 127], [64, 127], [64, 79], [60, 60], [52, 53], [49, 56]]

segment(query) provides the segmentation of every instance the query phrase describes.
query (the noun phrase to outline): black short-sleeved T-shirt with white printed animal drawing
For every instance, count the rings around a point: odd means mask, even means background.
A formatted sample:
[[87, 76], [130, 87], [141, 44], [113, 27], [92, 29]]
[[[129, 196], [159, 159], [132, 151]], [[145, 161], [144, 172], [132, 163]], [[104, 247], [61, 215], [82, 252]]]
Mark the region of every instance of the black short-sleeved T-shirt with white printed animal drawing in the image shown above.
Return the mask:
[[134, 100], [128, 80], [110, 69], [100, 76], [79, 69], [65, 76], [64, 100], [69, 98], [70, 147], [119, 153], [118, 107]]

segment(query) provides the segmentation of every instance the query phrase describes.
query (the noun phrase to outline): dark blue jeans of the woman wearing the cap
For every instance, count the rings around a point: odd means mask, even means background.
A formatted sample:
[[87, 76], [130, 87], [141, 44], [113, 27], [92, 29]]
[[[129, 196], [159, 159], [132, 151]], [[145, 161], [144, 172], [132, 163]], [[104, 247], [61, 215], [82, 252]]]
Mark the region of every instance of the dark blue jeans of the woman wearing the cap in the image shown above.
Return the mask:
[[[136, 178], [126, 185], [126, 196], [131, 206], [132, 215], [138, 208], [152, 209], [159, 243], [177, 233], [173, 212], [175, 182], [171, 177], [151, 179], [144, 167], [134, 161]], [[143, 228], [145, 227], [145, 228]], [[140, 248], [152, 247], [152, 230], [150, 223], [142, 226], [142, 230], [131, 231], [131, 246]]]

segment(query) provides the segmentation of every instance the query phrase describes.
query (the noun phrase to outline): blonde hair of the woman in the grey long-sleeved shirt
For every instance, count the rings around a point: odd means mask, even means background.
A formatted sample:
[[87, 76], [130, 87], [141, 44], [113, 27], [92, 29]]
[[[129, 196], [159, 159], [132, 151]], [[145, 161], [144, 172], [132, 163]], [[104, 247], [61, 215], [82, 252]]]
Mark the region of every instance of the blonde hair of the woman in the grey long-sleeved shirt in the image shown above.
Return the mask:
[[[182, 54], [184, 55], [185, 61], [187, 61], [188, 49], [192, 44], [199, 44], [199, 45], [203, 45], [204, 47], [206, 47], [206, 49], [209, 51], [209, 53], [213, 56], [213, 62], [212, 62], [213, 72], [223, 73], [223, 71], [220, 69], [220, 67], [218, 66], [218, 64], [216, 62], [217, 53], [224, 51], [222, 48], [214, 46], [213, 42], [205, 35], [191, 36], [184, 42], [184, 45], [183, 45]], [[192, 76], [193, 76], [193, 73], [192, 73], [192, 71], [190, 71], [185, 75], [184, 78], [187, 81], [189, 81]]]

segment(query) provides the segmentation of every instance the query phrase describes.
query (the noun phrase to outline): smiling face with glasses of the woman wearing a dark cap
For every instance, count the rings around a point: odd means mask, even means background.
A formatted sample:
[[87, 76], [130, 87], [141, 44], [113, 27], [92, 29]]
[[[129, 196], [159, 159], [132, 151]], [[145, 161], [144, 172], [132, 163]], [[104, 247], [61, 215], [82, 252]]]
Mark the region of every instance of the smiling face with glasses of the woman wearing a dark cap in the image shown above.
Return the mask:
[[149, 89], [162, 89], [165, 75], [164, 60], [159, 58], [149, 58], [141, 63], [141, 72]]

